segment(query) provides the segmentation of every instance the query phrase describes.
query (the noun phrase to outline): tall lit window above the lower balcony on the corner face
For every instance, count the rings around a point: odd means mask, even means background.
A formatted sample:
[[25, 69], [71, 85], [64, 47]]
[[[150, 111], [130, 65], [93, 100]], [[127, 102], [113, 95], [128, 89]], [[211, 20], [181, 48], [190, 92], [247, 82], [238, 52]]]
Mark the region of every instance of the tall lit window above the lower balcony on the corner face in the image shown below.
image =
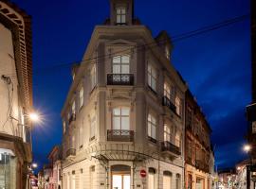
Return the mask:
[[130, 108], [119, 107], [113, 109], [113, 129], [130, 129]]

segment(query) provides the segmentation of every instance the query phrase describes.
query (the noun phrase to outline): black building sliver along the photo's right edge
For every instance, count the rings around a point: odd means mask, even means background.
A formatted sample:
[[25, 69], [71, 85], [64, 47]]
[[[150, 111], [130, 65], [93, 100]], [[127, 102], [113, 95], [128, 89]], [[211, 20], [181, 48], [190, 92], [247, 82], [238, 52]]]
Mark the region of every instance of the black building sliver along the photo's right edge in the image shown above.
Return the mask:
[[251, 146], [247, 165], [247, 189], [256, 189], [256, 2], [251, 0], [251, 104], [247, 106], [247, 141]]

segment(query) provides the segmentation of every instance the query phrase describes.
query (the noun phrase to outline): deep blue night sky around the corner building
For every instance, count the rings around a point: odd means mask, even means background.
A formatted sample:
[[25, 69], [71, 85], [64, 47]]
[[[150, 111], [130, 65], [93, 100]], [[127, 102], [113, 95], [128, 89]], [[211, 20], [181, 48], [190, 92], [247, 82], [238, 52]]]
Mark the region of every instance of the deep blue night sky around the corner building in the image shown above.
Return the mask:
[[[94, 26], [109, 15], [109, 0], [13, 2], [32, 15], [33, 100], [44, 115], [44, 123], [33, 130], [33, 155], [42, 166], [51, 147], [61, 144], [60, 112], [71, 84], [70, 63], [82, 60]], [[176, 36], [249, 11], [249, 0], [135, 0], [136, 16], [154, 36], [160, 30]], [[217, 167], [243, 160], [250, 102], [249, 18], [174, 43], [172, 60], [210, 122]]]

